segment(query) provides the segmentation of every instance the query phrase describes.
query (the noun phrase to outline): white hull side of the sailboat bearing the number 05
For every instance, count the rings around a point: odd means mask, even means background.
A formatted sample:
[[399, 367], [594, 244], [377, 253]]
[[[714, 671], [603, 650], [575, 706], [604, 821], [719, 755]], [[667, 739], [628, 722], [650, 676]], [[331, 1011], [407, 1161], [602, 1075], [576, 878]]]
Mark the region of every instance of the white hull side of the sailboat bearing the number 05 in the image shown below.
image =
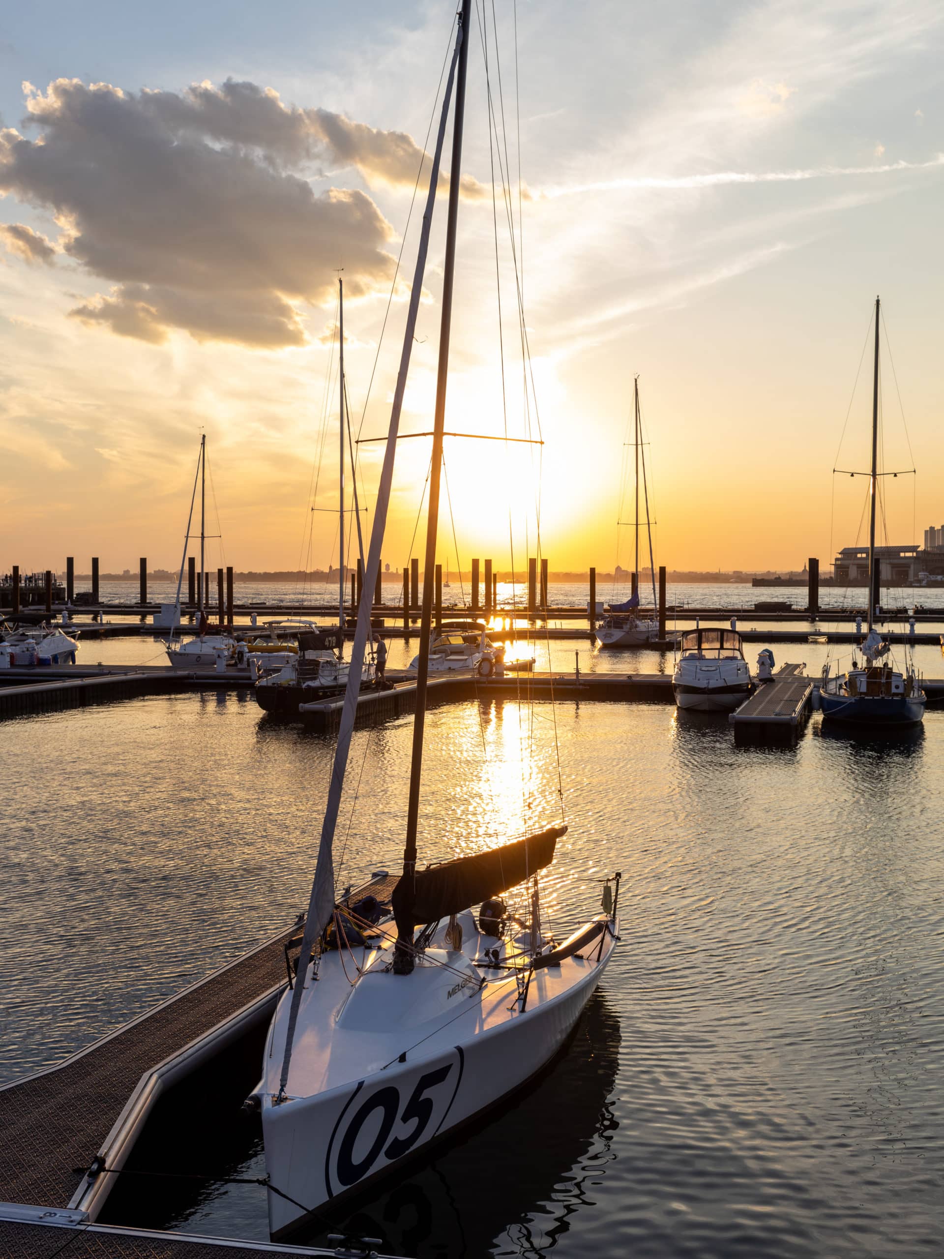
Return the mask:
[[[296, 1204], [269, 1192], [269, 1231], [276, 1240], [329, 1207], [361, 1195], [374, 1182], [425, 1151], [433, 1142], [515, 1093], [558, 1054], [600, 981], [615, 927], [588, 957], [565, 958], [536, 972], [524, 1012], [492, 1022], [477, 1019], [453, 1027], [454, 1044], [425, 1056], [409, 1051], [386, 1069], [310, 1098], [273, 1105], [262, 1097], [266, 1166], [271, 1183]], [[487, 973], [487, 972], [486, 972]], [[361, 981], [364, 982], [364, 981]], [[378, 974], [368, 983], [398, 985]], [[485, 992], [491, 992], [491, 985]], [[515, 985], [497, 983], [502, 1011], [515, 1005]], [[478, 1001], [477, 993], [459, 1000]], [[283, 998], [284, 1000], [284, 998]], [[278, 1016], [277, 1016], [278, 1017]], [[463, 1020], [466, 1022], [467, 1020]], [[446, 1030], [446, 1029], [444, 1029]], [[472, 1035], [468, 1035], [473, 1031]], [[442, 1044], [442, 1037], [437, 1037]], [[413, 1054], [417, 1058], [413, 1058]], [[289, 1081], [291, 1085], [291, 1081]]]

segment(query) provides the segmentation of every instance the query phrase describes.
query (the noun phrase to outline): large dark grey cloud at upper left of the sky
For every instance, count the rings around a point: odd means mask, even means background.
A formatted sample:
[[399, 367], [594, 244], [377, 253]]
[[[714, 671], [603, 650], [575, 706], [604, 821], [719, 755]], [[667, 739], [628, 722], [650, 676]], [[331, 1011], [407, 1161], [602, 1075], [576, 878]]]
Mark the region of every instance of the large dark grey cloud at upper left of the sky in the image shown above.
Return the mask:
[[[24, 91], [24, 126], [40, 136], [0, 131], [0, 193], [50, 210], [60, 251], [111, 282], [77, 319], [154, 344], [181, 329], [297, 346], [298, 303], [331, 301], [339, 266], [351, 297], [386, 291], [390, 224], [366, 193], [317, 195], [301, 166], [320, 154], [388, 183], [409, 174], [412, 186], [420, 151], [409, 136], [288, 110], [245, 83], [181, 96], [78, 79]], [[24, 240], [20, 251], [45, 257], [42, 237]]]

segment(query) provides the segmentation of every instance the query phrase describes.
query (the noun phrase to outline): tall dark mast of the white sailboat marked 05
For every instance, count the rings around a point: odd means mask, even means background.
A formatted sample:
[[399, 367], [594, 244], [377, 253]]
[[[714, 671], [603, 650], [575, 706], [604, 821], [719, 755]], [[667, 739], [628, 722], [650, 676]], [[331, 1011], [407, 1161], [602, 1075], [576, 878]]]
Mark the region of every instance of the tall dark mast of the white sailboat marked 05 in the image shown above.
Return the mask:
[[[439, 473], [443, 465], [443, 428], [446, 426], [446, 384], [449, 368], [449, 330], [452, 326], [452, 285], [456, 269], [456, 224], [459, 212], [459, 175], [462, 170], [462, 123], [466, 113], [466, 65], [472, 0], [462, 0], [462, 44], [456, 78], [456, 116], [452, 127], [452, 164], [449, 166], [449, 209], [446, 223], [446, 261], [443, 267], [443, 312], [439, 325], [439, 365], [435, 379], [435, 418], [433, 423], [433, 461], [429, 476], [429, 512], [427, 515], [427, 551], [423, 569], [423, 614], [419, 628], [419, 666], [417, 669], [417, 710], [413, 719], [413, 755], [410, 788], [407, 806], [407, 842], [403, 850], [404, 879], [412, 879], [417, 866], [417, 826], [419, 821], [419, 782], [423, 774], [423, 728], [427, 713], [427, 680], [429, 674], [429, 633], [433, 619], [433, 585], [435, 584], [435, 531], [439, 516]], [[412, 969], [413, 961], [409, 959]]]

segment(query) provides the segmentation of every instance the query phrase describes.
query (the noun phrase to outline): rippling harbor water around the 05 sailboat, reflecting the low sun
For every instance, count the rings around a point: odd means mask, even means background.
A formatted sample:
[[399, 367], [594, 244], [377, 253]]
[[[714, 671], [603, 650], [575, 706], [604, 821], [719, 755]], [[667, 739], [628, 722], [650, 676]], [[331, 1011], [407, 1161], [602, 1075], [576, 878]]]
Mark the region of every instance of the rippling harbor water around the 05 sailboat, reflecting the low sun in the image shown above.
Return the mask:
[[[101, 648], [140, 661], [155, 643]], [[339, 885], [396, 866], [410, 731], [355, 734]], [[89, 708], [0, 738], [0, 1079], [305, 906], [331, 742], [252, 696]], [[816, 716], [795, 748], [767, 750], [670, 705], [530, 706], [522, 689], [430, 711], [422, 856], [563, 810], [553, 928], [594, 914], [619, 869], [622, 944], [566, 1054], [350, 1226], [423, 1259], [939, 1253], [941, 783], [933, 706], [896, 739], [832, 737]], [[165, 1151], [160, 1170], [209, 1180], [141, 1178], [110, 1219], [266, 1238], [264, 1190], [225, 1183], [264, 1173], [258, 1129], [232, 1109], [195, 1107]]]

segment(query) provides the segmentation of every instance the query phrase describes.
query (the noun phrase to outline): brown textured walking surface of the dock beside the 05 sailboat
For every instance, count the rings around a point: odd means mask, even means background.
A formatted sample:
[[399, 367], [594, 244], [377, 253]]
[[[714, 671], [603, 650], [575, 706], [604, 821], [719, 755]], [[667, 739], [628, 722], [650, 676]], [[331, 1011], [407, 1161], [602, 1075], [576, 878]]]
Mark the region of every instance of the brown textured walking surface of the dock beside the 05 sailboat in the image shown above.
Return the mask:
[[141, 1076], [279, 983], [295, 930], [62, 1066], [0, 1089], [0, 1200], [68, 1206]]

